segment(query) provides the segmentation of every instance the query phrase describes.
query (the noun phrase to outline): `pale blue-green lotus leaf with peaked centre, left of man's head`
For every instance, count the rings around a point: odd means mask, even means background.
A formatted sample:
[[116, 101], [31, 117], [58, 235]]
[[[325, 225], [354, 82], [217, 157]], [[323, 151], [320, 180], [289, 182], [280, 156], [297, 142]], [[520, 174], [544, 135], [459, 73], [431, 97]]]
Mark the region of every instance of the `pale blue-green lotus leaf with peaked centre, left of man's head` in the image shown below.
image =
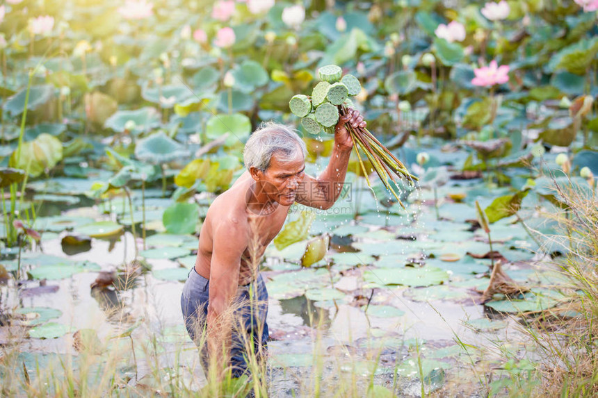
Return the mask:
[[172, 162], [189, 155], [188, 149], [165, 135], [163, 131], [149, 135], [137, 142], [135, 156], [154, 165]]

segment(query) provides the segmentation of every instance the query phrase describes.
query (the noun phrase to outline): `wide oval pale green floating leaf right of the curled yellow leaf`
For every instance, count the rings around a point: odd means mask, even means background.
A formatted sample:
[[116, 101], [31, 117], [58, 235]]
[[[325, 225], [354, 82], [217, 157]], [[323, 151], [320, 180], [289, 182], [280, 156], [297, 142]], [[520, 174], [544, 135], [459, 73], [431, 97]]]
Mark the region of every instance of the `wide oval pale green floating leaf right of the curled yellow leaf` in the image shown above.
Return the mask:
[[383, 285], [412, 287], [439, 285], [448, 281], [448, 273], [438, 267], [377, 268], [364, 272], [364, 281]]

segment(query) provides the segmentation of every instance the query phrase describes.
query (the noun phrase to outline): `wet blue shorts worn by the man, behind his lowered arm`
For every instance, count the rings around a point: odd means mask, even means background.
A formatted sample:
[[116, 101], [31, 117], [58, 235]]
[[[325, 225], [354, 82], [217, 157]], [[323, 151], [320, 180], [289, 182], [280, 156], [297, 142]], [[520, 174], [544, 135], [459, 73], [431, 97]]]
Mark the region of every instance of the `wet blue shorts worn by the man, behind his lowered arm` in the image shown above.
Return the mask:
[[[209, 279], [197, 274], [195, 267], [188, 274], [181, 294], [181, 310], [185, 327], [191, 340], [200, 347], [200, 359], [207, 374], [208, 349], [206, 324], [209, 302]], [[230, 365], [232, 376], [239, 377], [247, 373], [247, 348], [252, 345], [258, 360], [264, 360], [268, 341], [268, 291], [266, 283], [258, 275], [257, 280], [239, 286], [234, 300], [235, 318], [232, 328]]]

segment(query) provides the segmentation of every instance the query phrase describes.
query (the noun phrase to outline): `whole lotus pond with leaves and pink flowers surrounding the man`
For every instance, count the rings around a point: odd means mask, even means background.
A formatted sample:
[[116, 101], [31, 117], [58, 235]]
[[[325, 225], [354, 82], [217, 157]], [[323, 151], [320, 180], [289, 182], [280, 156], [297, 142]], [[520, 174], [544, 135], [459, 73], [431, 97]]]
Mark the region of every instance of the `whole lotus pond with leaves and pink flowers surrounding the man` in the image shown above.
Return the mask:
[[397, 198], [354, 153], [332, 208], [291, 206], [261, 264], [270, 395], [312, 396], [316, 379], [326, 396], [537, 384], [526, 325], [575, 319], [564, 304], [583, 295], [558, 267], [576, 231], [551, 215], [570, 218], [567, 192], [596, 200], [597, 8], [7, 0], [2, 395], [64, 378], [72, 396], [202, 387], [179, 302], [202, 219], [261, 121], [296, 125], [306, 172], [325, 169], [332, 135], [305, 131], [289, 100], [330, 64], [359, 79], [355, 108], [419, 182], [393, 183]]

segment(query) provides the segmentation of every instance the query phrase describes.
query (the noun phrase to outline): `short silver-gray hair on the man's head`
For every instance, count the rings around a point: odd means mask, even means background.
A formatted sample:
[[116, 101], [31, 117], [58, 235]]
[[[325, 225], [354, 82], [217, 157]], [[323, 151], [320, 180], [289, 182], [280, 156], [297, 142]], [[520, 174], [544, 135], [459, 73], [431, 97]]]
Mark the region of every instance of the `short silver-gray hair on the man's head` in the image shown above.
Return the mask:
[[276, 122], [262, 122], [245, 144], [243, 161], [248, 170], [253, 166], [265, 172], [273, 154], [282, 155], [284, 161], [294, 158], [299, 152], [303, 153], [303, 158], [307, 156], [305, 142], [295, 128]]

